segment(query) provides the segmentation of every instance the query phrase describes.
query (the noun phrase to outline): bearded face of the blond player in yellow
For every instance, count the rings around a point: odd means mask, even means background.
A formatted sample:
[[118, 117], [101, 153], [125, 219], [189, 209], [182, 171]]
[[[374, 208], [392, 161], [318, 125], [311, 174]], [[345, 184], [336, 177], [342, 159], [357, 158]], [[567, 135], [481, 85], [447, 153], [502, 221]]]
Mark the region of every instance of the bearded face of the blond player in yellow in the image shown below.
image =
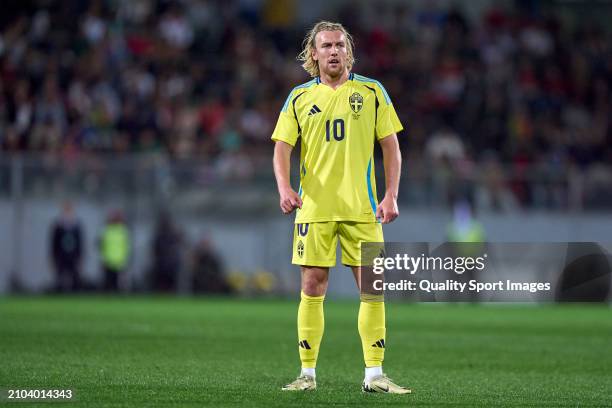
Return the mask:
[[346, 38], [342, 31], [321, 31], [315, 37], [313, 58], [319, 64], [321, 74], [332, 78], [346, 71]]

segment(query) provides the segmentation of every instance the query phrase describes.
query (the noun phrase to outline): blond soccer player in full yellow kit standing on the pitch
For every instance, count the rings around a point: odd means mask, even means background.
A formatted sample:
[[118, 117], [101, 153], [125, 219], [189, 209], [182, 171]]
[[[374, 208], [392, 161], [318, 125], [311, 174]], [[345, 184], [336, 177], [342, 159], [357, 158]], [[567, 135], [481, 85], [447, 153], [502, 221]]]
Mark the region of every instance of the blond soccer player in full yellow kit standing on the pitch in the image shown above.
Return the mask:
[[[336, 264], [338, 238], [342, 263], [360, 285], [361, 243], [382, 242], [381, 223], [399, 214], [397, 192], [402, 130], [391, 99], [380, 82], [351, 72], [353, 42], [341, 24], [317, 23], [299, 57], [313, 77], [287, 98], [272, 135], [274, 173], [283, 213], [297, 209], [293, 263], [301, 266], [298, 308], [302, 371], [283, 390], [314, 390], [315, 367], [323, 337], [323, 300], [329, 268]], [[300, 187], [289, 182], [291, 151], [301, 138]], [[386, 194], [377, 204], [374, 141], [384, 156]], [[365, 360], [362, 390], [408, 394], [382, 371], [385, 305], [382, 295], [361, 295], [358, 329]]]

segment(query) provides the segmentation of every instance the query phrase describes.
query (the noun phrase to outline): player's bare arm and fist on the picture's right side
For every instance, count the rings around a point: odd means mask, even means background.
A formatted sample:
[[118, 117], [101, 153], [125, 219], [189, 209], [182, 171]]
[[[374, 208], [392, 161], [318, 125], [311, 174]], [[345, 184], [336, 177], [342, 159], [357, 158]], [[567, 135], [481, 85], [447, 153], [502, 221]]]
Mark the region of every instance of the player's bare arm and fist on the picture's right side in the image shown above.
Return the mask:
[[402, 168], [402, 154], [397, 141], [397, 134], [392, 133], [378, 141], [383, 152], [385, 166], [385, 197], [376, 208], [376, 218], [383, 224], [388, 224], [399, 215], [397, 194]]

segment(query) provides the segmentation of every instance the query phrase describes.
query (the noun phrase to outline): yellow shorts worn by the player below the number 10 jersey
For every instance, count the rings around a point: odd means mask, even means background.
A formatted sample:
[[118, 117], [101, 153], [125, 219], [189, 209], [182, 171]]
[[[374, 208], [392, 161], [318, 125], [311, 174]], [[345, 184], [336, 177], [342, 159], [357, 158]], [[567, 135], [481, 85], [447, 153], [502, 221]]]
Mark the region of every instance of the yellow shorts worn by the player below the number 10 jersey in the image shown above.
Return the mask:
[[347, 266], [362, 266], [362, 242], [384, 241], [382, 225], [378, 222], [329, 221], [295, 224], [292, 263], [335, 266], [338, 237], [342, 248], [342, 263]]

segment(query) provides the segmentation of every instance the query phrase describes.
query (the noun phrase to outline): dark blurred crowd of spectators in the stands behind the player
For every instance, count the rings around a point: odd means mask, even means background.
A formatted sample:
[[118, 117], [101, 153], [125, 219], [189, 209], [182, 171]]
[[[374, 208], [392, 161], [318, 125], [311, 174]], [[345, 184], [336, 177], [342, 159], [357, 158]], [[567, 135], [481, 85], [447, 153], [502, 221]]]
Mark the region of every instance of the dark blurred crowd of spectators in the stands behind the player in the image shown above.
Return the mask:
[[[427, 2], [322, 17], [352, 32], [354, 71], [391, 95], [409, 177], [497, 208], [567, 207], [579, 175], [612, 202], [610, 32], [524, 3], [476, 20]], [[158, 154], [248, 180], [269, 166], [286, 95], [309, 79], [295, 60], [307, 28], [296, 2], [17, 4], [0, 17], [4, 151]], [[487, 189], [461, 191], [462, 178]]]

